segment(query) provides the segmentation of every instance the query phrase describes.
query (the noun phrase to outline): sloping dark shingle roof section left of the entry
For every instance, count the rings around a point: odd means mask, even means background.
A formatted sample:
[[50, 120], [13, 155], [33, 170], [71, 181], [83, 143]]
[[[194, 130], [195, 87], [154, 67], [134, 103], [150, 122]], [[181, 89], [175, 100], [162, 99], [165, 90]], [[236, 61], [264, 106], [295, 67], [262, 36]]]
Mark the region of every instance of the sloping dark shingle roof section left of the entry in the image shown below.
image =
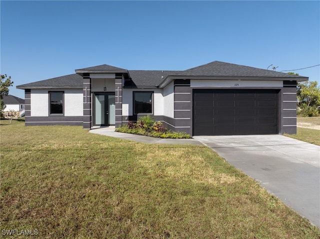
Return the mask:
[[64, 75], [16, 86], [18, 89], [83, 88], [83, 78], [78, 74]]

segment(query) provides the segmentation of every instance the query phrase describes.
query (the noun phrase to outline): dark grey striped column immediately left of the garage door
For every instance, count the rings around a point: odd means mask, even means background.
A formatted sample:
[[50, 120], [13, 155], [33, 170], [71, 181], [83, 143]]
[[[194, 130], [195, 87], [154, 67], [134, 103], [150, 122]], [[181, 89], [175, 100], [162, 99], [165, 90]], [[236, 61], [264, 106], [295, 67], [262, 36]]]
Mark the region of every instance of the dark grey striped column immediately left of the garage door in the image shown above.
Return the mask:
[[192, 89], [190, 80], [174, 80], [174, 131], [192, 135]]

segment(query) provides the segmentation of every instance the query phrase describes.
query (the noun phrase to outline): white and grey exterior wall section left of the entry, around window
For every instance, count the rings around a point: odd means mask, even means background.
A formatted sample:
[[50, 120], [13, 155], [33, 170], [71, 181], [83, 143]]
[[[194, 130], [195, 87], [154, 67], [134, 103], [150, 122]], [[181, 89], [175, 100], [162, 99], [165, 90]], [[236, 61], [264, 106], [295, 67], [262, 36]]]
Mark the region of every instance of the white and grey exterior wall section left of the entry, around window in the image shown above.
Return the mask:
[[[50, 91], [64, 91], [64, 115], [49, 115]], [[25, 90], [25, 125], [81, 125], [81, 89]]]

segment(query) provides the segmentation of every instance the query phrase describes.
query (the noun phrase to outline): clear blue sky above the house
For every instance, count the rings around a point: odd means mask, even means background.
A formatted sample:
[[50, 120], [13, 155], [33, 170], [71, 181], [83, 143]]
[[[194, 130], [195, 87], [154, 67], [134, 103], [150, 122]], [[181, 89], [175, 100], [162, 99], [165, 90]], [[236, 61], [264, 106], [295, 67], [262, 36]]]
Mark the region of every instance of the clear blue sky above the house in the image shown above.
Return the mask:
[[[19, 84], [108, 64], [320, 64], [320, 1], [0, 1], [0, 72]], [[271, 68], [271, 67], [270, 67]], [[269, 69], [270, 69], [269, 68]], [[296, 70], [319, 82], [320, 67]]]

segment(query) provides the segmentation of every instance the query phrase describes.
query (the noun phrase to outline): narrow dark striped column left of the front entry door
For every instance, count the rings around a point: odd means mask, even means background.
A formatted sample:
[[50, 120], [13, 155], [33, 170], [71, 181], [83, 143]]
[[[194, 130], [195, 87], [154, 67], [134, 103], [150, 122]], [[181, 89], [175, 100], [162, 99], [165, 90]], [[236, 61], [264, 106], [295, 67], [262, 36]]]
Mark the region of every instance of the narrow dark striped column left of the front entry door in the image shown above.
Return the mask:
[[83, 74], [83, 129], [92, 126], [91, 115], [91, 79], [88, 73]]

